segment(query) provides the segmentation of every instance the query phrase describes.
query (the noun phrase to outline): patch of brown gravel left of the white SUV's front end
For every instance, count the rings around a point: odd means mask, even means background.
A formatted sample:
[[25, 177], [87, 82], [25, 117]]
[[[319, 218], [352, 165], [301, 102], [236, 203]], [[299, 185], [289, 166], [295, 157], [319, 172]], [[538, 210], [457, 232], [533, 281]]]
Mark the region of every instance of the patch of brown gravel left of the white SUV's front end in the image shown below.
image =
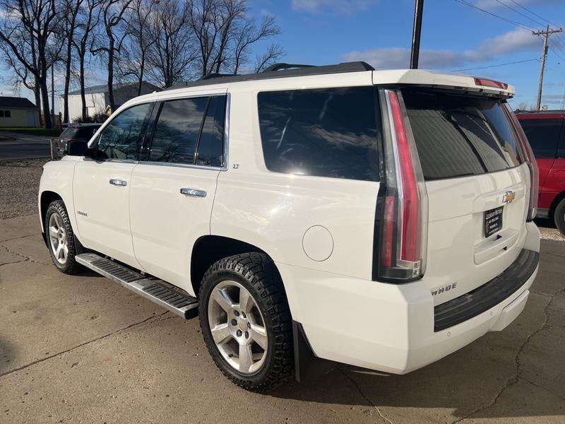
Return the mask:
[[0, 161], [0, 219], [37, 213], [37, 191], [46, 159]]

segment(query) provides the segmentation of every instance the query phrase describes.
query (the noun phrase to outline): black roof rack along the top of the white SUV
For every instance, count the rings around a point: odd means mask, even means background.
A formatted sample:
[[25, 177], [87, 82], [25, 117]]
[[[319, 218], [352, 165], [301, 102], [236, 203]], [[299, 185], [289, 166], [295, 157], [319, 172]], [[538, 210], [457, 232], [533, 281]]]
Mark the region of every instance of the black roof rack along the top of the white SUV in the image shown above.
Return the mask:
[[246, 73], [243, 75], [230, 75], [225, 73], [209, 73], [198, 81], [189, 81], [167, 88], [167, 90], [177, 90], [177, 88], [210, 86], [212, 84], [237, 83], [242, 81], [255, 81], [270, 78], [288, 78], [290, 76], [309, 76], [323, 75], [328, 73], [345, 73], [374, 71], [374, 68], [364, 61], [344, 62], [337, 65], [299, 65], [299, 64], [273, 64], [259, 73]]

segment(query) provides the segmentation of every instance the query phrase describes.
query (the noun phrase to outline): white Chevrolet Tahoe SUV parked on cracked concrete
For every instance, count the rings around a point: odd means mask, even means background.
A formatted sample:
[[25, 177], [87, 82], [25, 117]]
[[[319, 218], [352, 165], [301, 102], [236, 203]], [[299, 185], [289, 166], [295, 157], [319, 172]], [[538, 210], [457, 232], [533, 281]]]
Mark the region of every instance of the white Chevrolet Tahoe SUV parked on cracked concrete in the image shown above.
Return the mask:
[[403, 374], [523, 310], [537, 168], [505, 83], [279, 64], [126, 102], [44, 166], [57, 268], [182, 317], [254, 391], [323, 360]]

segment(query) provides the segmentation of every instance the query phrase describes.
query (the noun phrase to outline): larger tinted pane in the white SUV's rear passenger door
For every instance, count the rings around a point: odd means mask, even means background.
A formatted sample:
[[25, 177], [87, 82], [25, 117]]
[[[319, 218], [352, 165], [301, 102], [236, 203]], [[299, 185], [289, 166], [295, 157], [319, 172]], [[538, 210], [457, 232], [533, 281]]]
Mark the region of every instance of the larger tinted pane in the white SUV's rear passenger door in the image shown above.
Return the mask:
[[194, 151], [208, 98], [163, 102], [151, 143], [154, 162], [194, 163]]

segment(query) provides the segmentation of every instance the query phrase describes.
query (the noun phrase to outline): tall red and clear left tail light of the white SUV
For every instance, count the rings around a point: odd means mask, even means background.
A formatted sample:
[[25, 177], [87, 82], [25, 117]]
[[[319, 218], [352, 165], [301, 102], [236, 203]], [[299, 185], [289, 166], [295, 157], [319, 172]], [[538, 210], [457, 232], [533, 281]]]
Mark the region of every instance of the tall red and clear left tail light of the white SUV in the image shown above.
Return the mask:
[[396, 91], [383, 92], [390, 123], [385, 136], [386, 182], [379, 192], [378, 269], [374, 278], [404, 283], [424, 275], [427, 249], [427, 192], [416, 146]]

